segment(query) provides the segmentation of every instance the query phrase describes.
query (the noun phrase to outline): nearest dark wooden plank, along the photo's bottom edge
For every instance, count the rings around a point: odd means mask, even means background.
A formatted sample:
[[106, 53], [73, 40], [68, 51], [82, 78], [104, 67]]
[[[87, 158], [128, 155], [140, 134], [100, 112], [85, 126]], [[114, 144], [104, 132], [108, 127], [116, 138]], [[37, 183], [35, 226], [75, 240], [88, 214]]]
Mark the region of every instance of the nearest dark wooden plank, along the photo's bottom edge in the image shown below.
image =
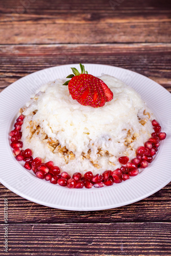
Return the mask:
[[8, 255], [170, 255], [170, 231], [170, 223], [10, 224]]

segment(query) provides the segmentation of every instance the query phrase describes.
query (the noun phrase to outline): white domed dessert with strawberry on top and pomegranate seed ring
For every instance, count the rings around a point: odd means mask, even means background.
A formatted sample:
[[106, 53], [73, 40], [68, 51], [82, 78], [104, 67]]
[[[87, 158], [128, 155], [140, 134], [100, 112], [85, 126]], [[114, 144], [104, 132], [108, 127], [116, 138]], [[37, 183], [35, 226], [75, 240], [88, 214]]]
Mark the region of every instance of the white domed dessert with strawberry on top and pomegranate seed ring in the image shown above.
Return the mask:
[[166, 134], [132, 88], [80, 68], [68, 86], [44, 84], [21, 110], [10, 133], [13, 153], [38, 178], [61, 186], [120, 183], [152, 162]]

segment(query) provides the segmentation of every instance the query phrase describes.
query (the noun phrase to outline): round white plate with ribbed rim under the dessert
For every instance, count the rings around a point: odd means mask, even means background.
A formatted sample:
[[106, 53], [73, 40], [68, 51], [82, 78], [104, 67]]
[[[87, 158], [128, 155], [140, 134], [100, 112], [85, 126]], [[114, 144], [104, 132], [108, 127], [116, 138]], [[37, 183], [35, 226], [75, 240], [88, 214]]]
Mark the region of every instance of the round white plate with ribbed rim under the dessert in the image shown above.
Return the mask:
[[86, 64], [92, 75], [102, 73], [115, 76], [133, 87], [154, 111], [167, 137], [161, 142], [158, 154], [149, 167], [136, 177], [110, 187], [69, 189], [36, 178], [15, 160], [9, 145], [9, 132], [18, 109], [42, 83], [63, 78], [71, 73], [63, 65], [41, 70], [11, 84], [0, 94], [0, 181], [15, 194], [38, 204], [67, 210], [101, 210], [115, 208], [146, 198], [171, 180], [171, 95], [153, 80], [133, 71], [97, 64]]

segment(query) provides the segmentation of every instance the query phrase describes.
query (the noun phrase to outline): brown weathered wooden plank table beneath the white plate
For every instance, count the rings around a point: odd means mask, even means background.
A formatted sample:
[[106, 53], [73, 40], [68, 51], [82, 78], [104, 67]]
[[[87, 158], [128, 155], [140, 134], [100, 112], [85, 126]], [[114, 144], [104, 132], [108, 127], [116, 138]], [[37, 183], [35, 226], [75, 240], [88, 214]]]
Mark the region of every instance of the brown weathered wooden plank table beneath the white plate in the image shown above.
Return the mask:
[[[82, 62], [136, 71], [171, 92], [170, 7], [169, 0], [0, 0], [0, 90], [37, 70]], [[0, 255], [170, 255], [170, 185], [89, 212], [38, 205], [1, 185]]]

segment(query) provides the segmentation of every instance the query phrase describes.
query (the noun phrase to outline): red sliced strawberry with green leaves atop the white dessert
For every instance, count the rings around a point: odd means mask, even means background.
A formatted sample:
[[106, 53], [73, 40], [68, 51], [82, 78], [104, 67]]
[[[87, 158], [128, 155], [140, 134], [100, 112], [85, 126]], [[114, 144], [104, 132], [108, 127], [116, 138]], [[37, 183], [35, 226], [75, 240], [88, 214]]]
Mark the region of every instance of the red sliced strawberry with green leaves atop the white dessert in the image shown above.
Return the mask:
[[106, 101], [113, 99], [113, 92], [99, 78], [89, 75], [84, 66], [80, 63], [81, 73], [77, 69], [71, 68], [74, 74], [67, 76], [71, 80], [63, 83], [68, 85], [69, 92], [73, 99], [81, 105], [90, 105], [93, 108], [103, 106]]

